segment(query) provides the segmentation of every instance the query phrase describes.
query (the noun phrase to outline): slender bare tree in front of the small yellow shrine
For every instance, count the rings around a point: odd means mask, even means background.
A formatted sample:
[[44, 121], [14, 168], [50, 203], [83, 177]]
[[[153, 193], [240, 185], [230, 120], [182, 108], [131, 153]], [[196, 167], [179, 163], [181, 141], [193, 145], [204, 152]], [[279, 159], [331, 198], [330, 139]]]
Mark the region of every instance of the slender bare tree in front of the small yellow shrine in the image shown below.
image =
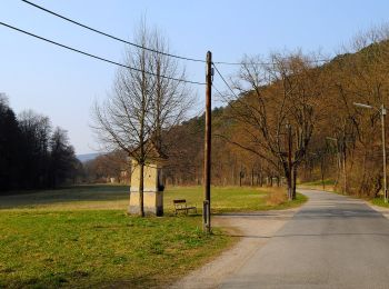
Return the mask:
[[128, 48], [124, 62], [137, 70], [120, 68], [113, 91], [93, 108], [94, 130], [108, 150], [122, 149], [140, 166], [139, 207], [143, 210], [143, 170], [152, 151], [162, 148], [162, 133], [179, 123], [189, 109], [184, 70], [169, 58], [167, 40], [144, 21], [136, 36], [141, 48]]

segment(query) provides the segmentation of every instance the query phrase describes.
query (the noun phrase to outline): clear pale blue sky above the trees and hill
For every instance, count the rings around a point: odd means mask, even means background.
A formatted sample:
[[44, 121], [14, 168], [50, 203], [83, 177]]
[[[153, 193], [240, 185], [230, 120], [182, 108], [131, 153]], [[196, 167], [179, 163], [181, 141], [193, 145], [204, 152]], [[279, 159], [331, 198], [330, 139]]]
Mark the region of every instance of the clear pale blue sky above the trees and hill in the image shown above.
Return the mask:
[[[320, 51], [333, 57], [352, 37], [389, 22], [387, 0], [30, 0], [49, 10], [131, 41], [141, 18], [168, 39], [171, 52], [213, 61], [245, 54]], [[19, 0], [0, 1], [0, 22], [120, 62], [126, 44], [96, 34]], [[117, 67], [33, 39], [0, 26], [0, 92], [11, 108], [48, 116], [68, 130], [77, 153], [99, 144], [90, 128], [91, 107], [110, 92]], [[188, 79], [205, 81], [205, 64], [181, 61]], [[228, 78], [235, 67], [220, 66]], [[215, 84], [226, 90], [220, 79]], [[197, 110], [205, 88], [194, 86]], [[213, 106], [222, 104], [217, 99]]]

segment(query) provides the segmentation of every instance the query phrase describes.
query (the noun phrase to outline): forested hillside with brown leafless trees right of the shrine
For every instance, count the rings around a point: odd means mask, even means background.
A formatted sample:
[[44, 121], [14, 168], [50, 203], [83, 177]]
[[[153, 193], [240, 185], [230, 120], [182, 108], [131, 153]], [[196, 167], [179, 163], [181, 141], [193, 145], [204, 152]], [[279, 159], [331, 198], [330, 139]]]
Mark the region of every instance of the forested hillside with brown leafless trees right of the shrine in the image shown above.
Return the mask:
[[[233, 83], [239, 98], [226, 97], [227, 106], [212, 111], [212, 183], [280, 179], [288, 169], [282, 166], [288, 166], [289, 136], [299, 180], [332, 179], [339, 190], [377, 195], [382, 180], [379, 109], [389, 106], [387, 36], [386, 30], [360, 36], [352, 42], [355, 52], [320, 66], [301, 53], [270, 56], [272, 66], [242, 64]], [[250, 79], [253, 70], [268, 82]], [[237, 83], [247, 80], [260, 86], [239, 89]], [[265, 116], [267, 127], [260, 123]], [[168, 146], [168, 182], [201, 183], [203, 116], [173, 128], [167, 140], [174, 144]]]

